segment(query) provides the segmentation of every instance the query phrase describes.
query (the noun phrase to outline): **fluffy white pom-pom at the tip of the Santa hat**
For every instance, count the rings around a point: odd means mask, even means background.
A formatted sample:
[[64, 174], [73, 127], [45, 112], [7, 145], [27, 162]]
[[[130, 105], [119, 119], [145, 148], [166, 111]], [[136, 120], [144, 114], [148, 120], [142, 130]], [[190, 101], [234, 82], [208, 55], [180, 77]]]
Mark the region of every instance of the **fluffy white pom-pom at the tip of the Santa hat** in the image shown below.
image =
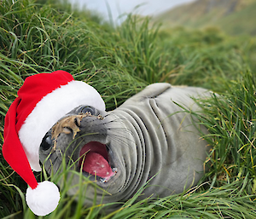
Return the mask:
[[46, 216], [54, 211], [60, 199], [59, 188], [53, 182], [39, 182], [38, 187], [26, 189], [26, 203], [37, 216]]

